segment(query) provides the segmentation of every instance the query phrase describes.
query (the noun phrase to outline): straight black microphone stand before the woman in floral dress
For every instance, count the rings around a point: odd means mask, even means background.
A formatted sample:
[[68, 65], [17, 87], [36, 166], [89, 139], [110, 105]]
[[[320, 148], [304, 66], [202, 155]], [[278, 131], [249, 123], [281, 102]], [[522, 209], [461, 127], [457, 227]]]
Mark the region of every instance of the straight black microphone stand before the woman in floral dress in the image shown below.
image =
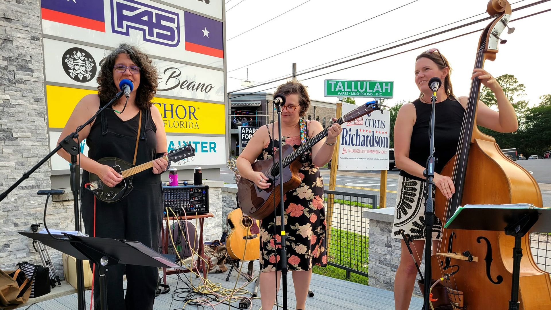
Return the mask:
[[[282, 139], [281, 139], [281, 106], [284, 104], [277, 105], [277, 118], [278, 118], [278, 140], [279, 140], [279, 216], [281, 216], [281, 277], [282, 277], [282, 286], [283, 286], [283, 310], [287, 310], [287, 234], [285, 233], [285, 210], [283, 207], [283, 154], [281, 152]], [[275, 220], [275, 219], [274, 219]], [[277, 254], [276, 254], [277, 258]]]

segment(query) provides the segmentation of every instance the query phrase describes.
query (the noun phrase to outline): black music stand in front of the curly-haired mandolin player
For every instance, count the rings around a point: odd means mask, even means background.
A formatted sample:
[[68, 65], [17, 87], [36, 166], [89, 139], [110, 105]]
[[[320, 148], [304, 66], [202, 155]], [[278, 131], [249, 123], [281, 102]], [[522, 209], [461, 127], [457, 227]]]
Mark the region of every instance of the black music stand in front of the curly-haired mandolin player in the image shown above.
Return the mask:
[[[138, 241], [118, 240], [109, 238], [81, 237], [70, 234], [52, 234], [19, 232], [23, 236], [46, 244], [62, 253], [74, 256], [76, 259], [88, 259], [96, 264], [100, 273], [100, 304], [101, 310], [107, 310], [106, 272], [109, 266], [118, 263], [151, 267], [184, 269], [172, 263], [163, 255], [148, 248]], [[56, 239], [57, 238], [57, 239]]]

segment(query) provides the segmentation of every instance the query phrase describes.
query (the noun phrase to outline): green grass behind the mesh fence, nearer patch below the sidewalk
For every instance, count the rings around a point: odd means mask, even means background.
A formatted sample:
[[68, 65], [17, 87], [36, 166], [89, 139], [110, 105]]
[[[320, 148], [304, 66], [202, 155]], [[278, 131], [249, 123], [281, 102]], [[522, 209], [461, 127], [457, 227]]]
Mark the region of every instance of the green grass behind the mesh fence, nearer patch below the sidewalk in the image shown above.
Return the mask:
[[[351, 269], [368, 272], [368, 252], [369, 237], [362, 236], [342, 229], [331, 229], [331, 243], [329, 244], [328, 261], [339, 265], [347, 266]], [[312, 270], [315, 274], [333, 277], [335, 279], [352, 281], [359, 284], [368, 285], [368, 278], [365, 276], [350, 273], [347, 279], [346, 271], [333, 266], [321, 268], [314, 266]]]

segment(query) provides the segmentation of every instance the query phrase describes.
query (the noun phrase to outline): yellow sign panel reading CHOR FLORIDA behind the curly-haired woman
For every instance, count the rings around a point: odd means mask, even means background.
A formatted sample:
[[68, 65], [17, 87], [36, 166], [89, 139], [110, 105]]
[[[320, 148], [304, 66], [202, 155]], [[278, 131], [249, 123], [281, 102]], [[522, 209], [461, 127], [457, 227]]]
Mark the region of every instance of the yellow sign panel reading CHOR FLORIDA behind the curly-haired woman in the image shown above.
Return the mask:
[[[48, 127], [63, 128], [78, 101], [96, 90], [46, 85]], [[223, 104], [189, 100], [153, 98], [159, 109], [166, 132], [225, 135]]]

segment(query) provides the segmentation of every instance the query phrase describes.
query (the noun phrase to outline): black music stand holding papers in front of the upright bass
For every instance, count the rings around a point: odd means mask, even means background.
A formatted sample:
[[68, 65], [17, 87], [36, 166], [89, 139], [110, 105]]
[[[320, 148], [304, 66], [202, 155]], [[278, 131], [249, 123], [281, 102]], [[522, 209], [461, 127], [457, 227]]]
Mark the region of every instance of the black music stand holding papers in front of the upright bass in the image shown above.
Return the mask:
[[[458, 207], [447, 221], [445, 228], [474, 229], [477, 231], [504, 231], [515, 237], [513, 248], [513, 274], [509, 310], [518, 310], [518, 281], [522, 258], [522, 237], [528, 231], [551, 232], [551, 209], [529, 204], [514, 205], [465, 205]], [[536, 222], [539, 222], [536, 225]]]

